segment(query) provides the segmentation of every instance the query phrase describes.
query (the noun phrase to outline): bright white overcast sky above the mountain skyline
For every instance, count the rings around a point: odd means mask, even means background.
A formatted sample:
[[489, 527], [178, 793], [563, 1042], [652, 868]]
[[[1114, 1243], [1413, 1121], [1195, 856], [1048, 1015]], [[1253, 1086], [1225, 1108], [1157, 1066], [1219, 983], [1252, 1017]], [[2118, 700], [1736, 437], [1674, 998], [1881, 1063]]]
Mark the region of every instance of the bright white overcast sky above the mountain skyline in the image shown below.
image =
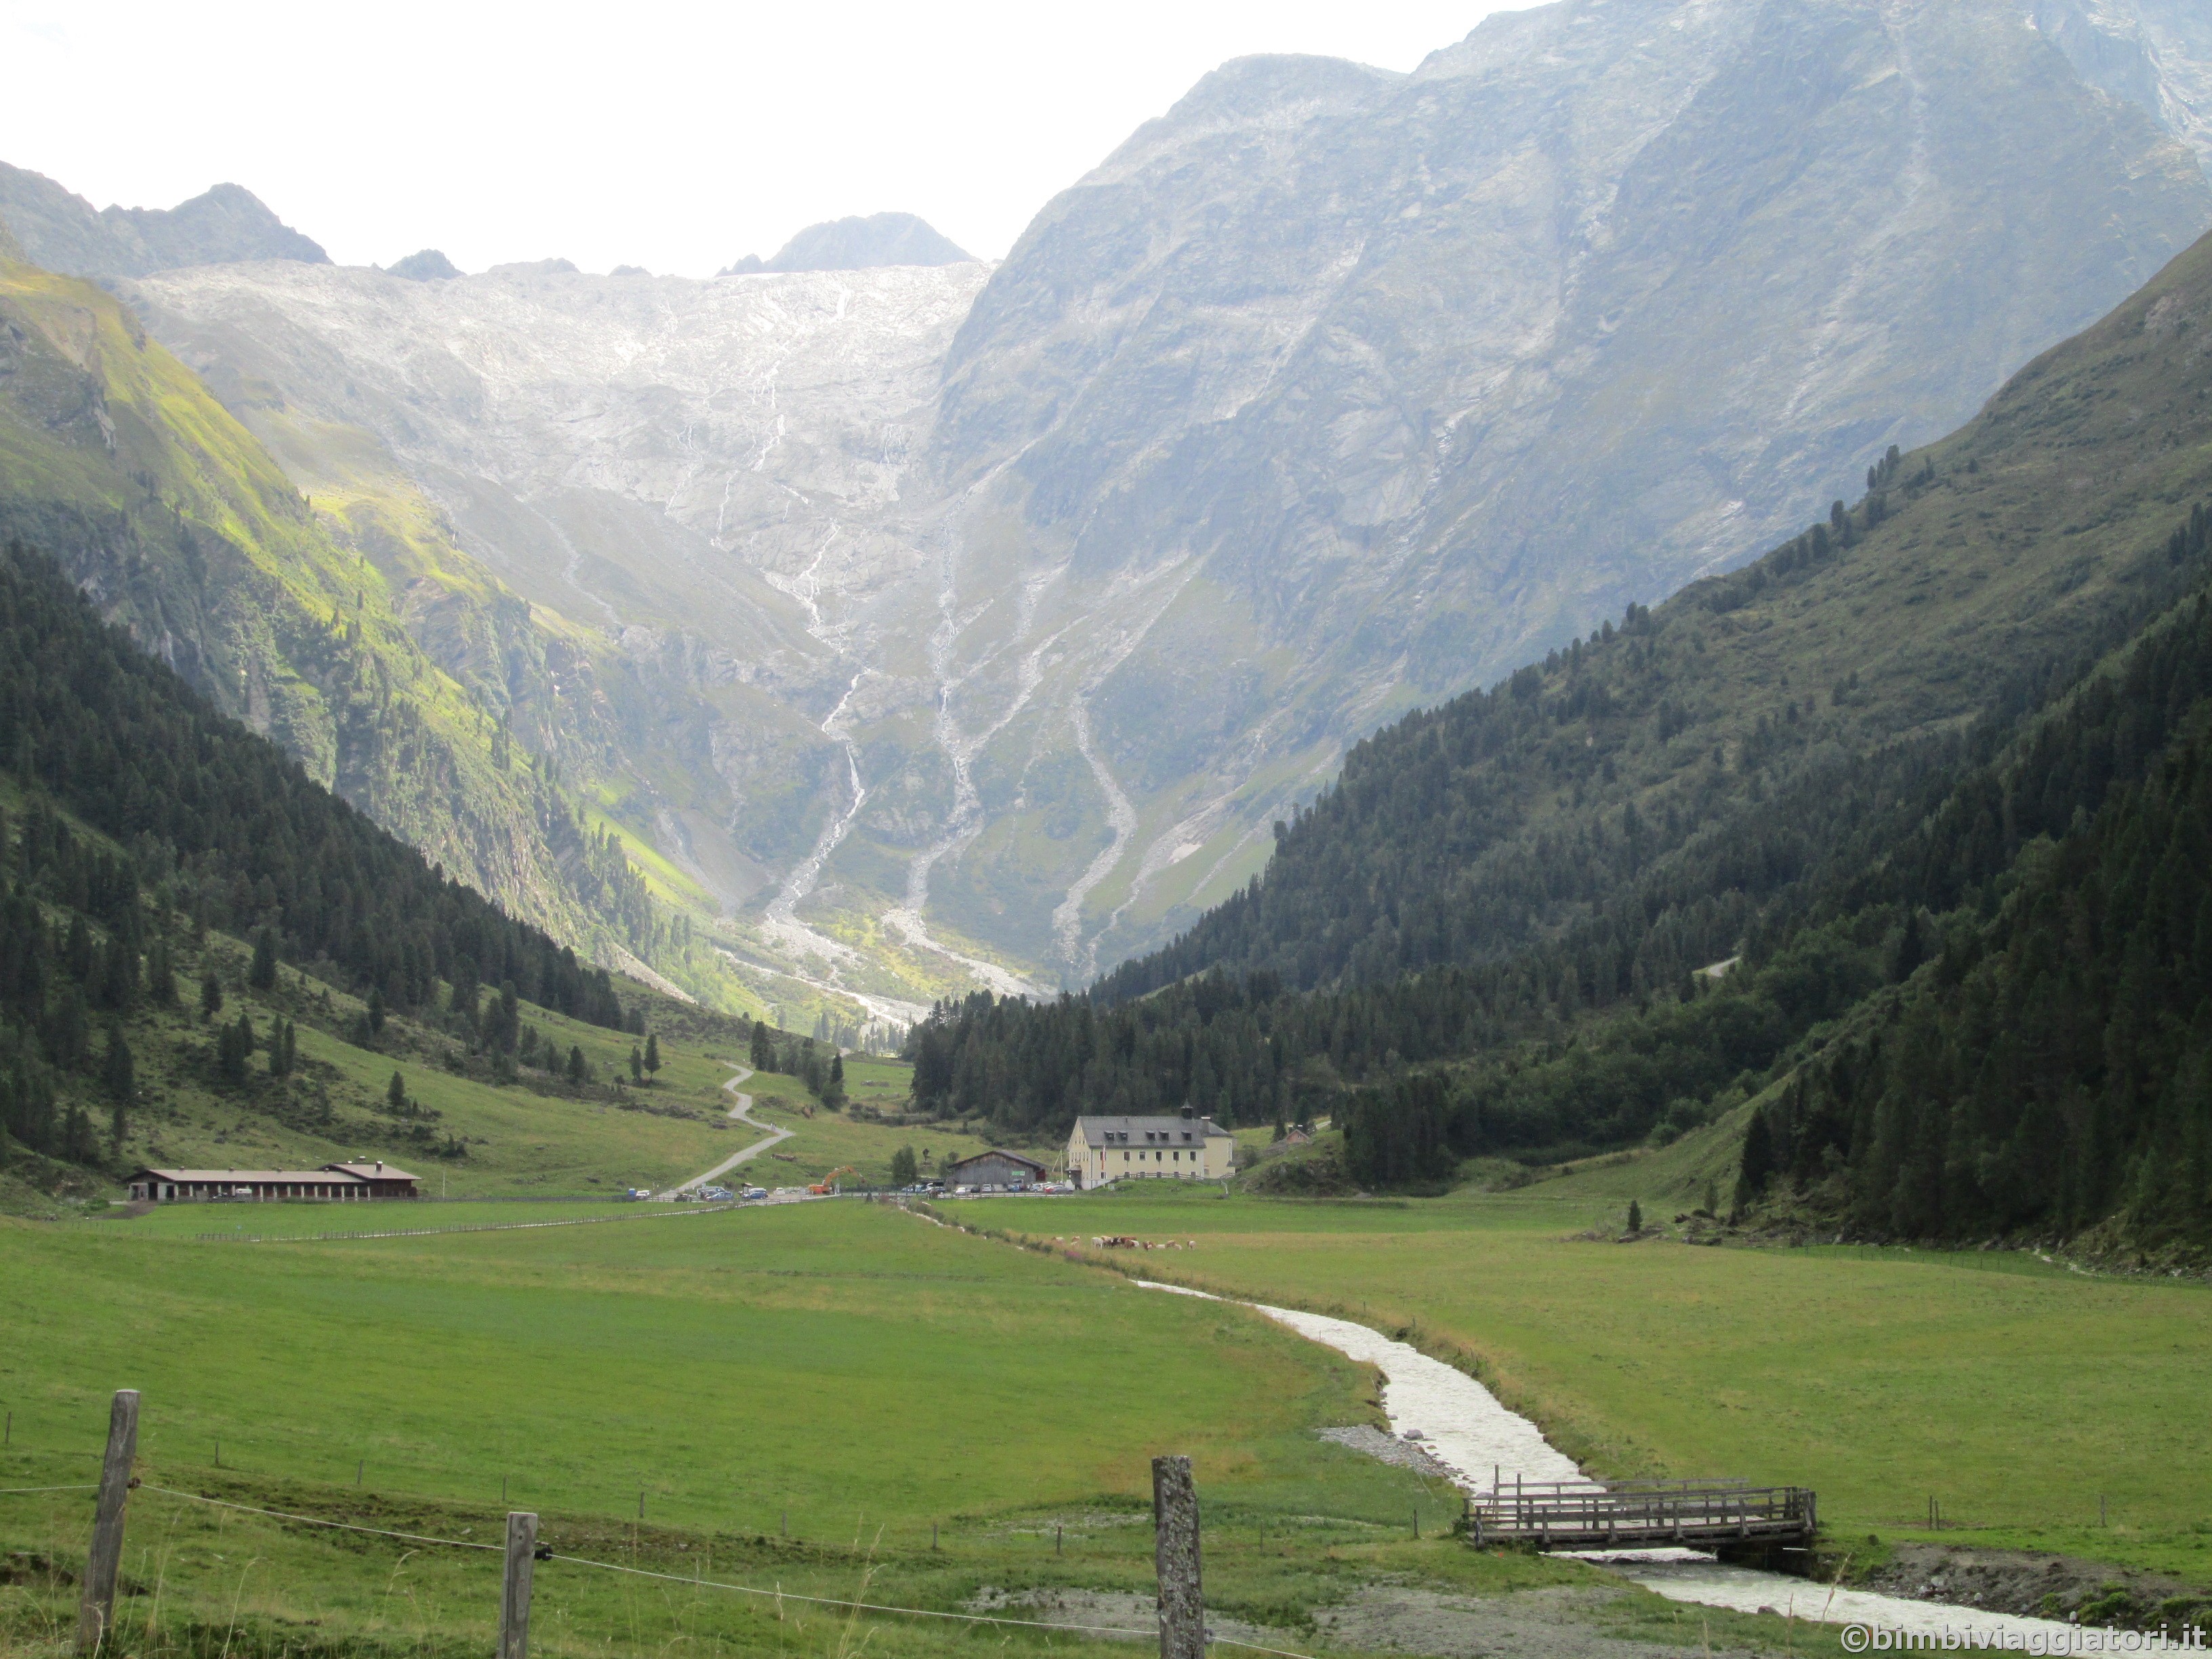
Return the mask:
[[0, 161], [93, 206], [259, 195], [341, 263], [710, 276], [918, 212], [998, 259], [1248, 53], [1413, 69], [1486, 0], [0, 0]]

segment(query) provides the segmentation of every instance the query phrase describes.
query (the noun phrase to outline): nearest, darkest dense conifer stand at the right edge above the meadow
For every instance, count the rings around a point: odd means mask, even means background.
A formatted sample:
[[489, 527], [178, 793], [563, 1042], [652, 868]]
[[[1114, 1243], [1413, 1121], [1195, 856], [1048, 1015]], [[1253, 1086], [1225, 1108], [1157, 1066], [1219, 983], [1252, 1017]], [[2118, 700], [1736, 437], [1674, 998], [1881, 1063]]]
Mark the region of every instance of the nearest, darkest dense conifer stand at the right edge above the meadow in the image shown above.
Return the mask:
[[1891, 865], [1905, 984], [1754, 1113], [1736, 1201], [1876, 1234], [2112, 1219], [2203, 1243], [2212, 602], [1969, 779]]

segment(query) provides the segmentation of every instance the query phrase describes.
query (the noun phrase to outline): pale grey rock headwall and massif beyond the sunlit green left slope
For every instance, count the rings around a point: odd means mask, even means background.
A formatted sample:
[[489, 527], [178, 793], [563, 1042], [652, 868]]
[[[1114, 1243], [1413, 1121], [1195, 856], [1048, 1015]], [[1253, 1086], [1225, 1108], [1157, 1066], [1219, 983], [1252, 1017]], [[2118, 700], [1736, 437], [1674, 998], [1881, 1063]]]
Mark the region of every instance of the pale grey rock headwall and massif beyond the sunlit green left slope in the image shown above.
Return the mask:
[[1159, 942], [1378, 721], [1971, 416], [2212, 223], [2203, 33], [2194, 0], [1559, 0], [1411, 75], [1228, 64], [998, 270], [135, 296], [250, 425], [372, 434], [661, 675], [721, 779], [655, 785], [664, 852], [914, 1002], [916, 964]]

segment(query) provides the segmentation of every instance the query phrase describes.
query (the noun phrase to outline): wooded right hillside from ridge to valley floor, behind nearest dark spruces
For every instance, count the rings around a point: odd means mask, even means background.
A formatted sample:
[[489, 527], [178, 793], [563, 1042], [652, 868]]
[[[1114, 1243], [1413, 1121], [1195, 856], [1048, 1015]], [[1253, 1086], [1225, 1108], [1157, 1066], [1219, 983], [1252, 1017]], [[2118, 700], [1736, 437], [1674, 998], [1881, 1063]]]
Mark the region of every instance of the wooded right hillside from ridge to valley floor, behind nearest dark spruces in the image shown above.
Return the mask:
[[[2192, 597], [2212, 538], [2197, 504], [2212, 493], [2205, 323], [2212, 248], [1759, 564], [1360, 745], [1279, 830], [1265, 876], [1172, 949], [1084, 1000], [940, 1011], [916, 1033], [918, 1097], [1013, 1121], [1179, 1099], [1252, 1121], [1329, 1102], [1354, 1172], [1405, 1181], [1471, 1152], [1668, 1139], [1794, 1075], [1889, 1006], [1885, 987], [1931, 938], [2013, 927], [1991, 918], [2033, 885], [2015, 865], [2044, 869], [2053, 838], [2075, 860], [2053, 869], [2095, 863], [2090, 825], [2121, 812], [2108, 794], [2192, 730], [2208, 688]], [[2115, 650], [2121, 666], [2099, 668]], [[2117, 984], [2121, 958], [2097, 969], [2075, 927], [2081, 971]], [[2185, 1026], [2199, 982], [2170, 967]], [[2004, 980], [2011, 995], [2031, 982]], [[2104, 1033], [2097, 995], [2075, 989]], [[2006, 1225], [2106, 1214], [2141, 1152], [2137, 1106], [2192, 1064], [2166, 1040], [2121, 1084], [2090, 1068], [2099, 1044], [2084, 1035], [2037, 1073], [2053, 1097], [2135, 1102], [2095, 1115], [2088, 1139], [2044, 1144], [2051, 1168], [2095, 1164], [2090, 1197]], [[1838, 1139], [1843, 1104], [1776, 1108], [1781, 1150], [1747, 1197], [1770, 1168], [1812, 1179], [1840, 1161], [1863, 1225], [1927, 1225], [1927, 1206], [1885, 1210], [1900, 1183], [1927, 1186], [1929, 1141], [1916, 1166], [1900, 1124], [1927, 1135], [1949, 1110], [1920, 1060], [1896, 1062], [1918, 1095], [1874, 1062], [1823, 1060], [1820, 1099], [1880, 1104], [1887, 1150]], [[2015, 1099], [2015, 1073], [1991, 1099]], [[1991, 1113], [1982, 1139], [1938, 1141], [1995, 1157], [2015, 1124]], [[1829, 1128], [1807, 1128], [1816, 1117]], [[1995, 1201], [1978, 1203], [1986, 1221]]]

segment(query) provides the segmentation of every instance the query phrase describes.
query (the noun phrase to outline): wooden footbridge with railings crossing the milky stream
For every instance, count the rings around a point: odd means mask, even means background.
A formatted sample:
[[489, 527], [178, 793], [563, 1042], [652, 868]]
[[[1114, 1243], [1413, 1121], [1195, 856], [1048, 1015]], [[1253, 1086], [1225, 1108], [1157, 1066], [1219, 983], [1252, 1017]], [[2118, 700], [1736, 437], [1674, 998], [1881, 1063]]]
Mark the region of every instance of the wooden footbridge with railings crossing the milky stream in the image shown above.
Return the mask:
[[1467, 1500], [1473, 1544], [1548, 1551], [1809, 1546], [1820, 1524], [1805, 1486], [1745, 1480], [1491, 1482]]

